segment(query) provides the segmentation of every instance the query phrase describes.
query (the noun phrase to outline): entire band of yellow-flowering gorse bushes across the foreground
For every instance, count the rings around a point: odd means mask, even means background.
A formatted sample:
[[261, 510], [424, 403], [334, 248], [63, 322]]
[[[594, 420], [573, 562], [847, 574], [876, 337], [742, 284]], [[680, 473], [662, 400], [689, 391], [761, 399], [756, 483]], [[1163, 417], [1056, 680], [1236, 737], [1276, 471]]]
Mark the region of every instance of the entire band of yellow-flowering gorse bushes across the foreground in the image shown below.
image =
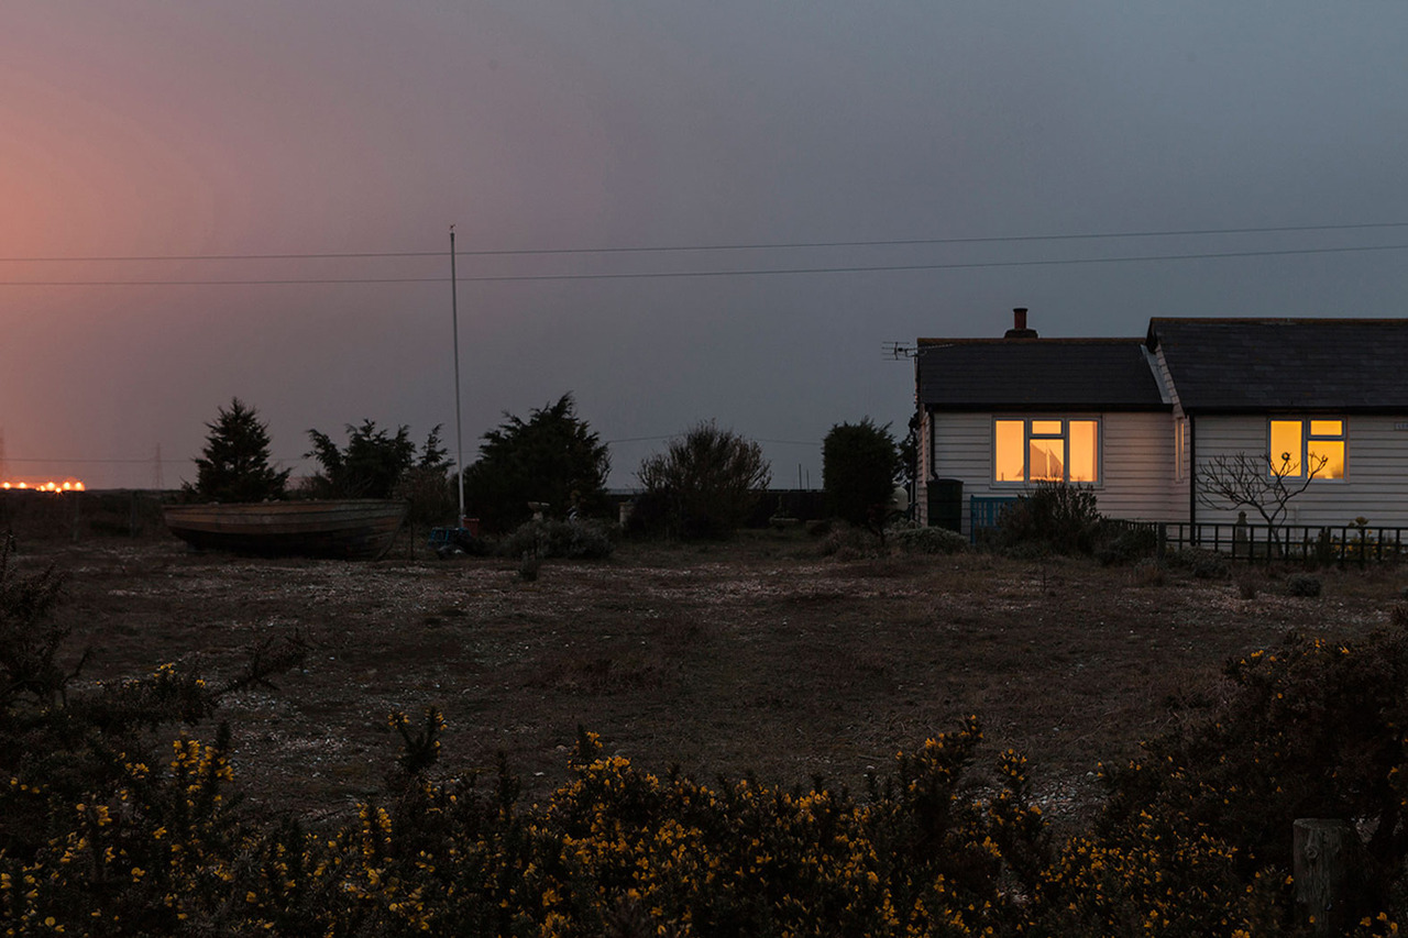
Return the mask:
[[256, 649], [224, 687], [165, 665], [79, 693], [46, 625], [59, 594], [0, 555], [7, 935], [1302, 934], [1297, 817], [1364, 834], [1353, 934], [1397, 934], [1405, 911], [1402, 608], [1362, 641], [1290, 635], [1229, 662], [1225, 701], [1104, 773], [1097, 821], [1055, 844], [1021, 755], [974, 777], [976, 717], [857, 794], [656, 775], [579, 732], [569, 780], [525, 804], [501, 758], [436, 779], [442, 715], [393, 713], [384, 789], [306, 828], [238, 799], [227, 728], [166, 730], [296, 646]]

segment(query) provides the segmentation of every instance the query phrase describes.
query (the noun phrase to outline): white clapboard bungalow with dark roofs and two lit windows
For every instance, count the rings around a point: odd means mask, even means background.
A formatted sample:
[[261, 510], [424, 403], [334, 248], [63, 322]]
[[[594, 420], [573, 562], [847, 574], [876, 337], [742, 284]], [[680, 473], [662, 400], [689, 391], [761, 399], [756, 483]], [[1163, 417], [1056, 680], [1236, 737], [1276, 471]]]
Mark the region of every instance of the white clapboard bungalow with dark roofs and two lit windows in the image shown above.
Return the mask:
[[1408, 527], [1408, 320], [1155, 318], [1142, 339], [1043, 339], [1017, 310], [1000, 339], [921, 338], [915, 382], [926, 524], [969, 534], [1035, 482], [1091, 486], [1112, 517], [1232, 523], [1197, 492], [1245, 455], [1311, 473], [1287, 524]]

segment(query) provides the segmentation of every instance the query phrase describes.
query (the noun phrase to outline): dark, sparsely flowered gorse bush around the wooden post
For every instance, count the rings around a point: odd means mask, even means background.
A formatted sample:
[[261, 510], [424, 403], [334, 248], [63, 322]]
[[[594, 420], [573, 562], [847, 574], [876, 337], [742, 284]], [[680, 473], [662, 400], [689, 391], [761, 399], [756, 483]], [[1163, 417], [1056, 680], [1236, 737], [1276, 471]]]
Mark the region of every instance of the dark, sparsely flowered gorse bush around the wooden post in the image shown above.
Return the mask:
[[1229, 662], [1222, 707], [1108, 773], [1102, 842], [1128, 845], [1155, 825], [1164, 842], [1218, 845], [1219, 876], [1271, 890], [1291, 870], [1295, 818], [1345, 818], [1367, 837], [1353, 901], [1402, 917], [1408, 613], [1394, 620], [1359, 641], [1291, 634]]

